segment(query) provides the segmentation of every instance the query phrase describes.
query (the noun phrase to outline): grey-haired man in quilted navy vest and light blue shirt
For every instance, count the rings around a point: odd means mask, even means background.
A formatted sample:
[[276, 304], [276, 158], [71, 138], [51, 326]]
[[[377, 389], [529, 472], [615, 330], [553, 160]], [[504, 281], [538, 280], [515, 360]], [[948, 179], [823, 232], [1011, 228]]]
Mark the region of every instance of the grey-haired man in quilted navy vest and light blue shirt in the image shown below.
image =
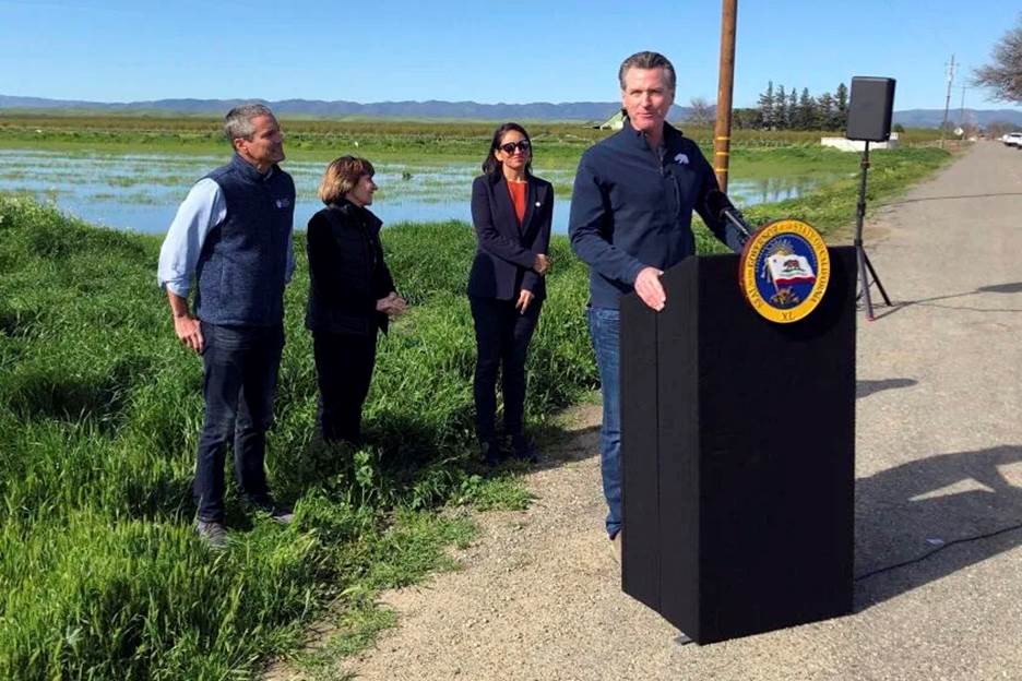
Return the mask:
[[205, 370], [193, 493], [197, 530], [215, 548], [227, 539], [228, 449], [245, 499], [278, 523], [294, 519], [270, 494], [263, 457], [284, 347], [284, 286], [294, 271], [295, 183], [277, 166], [284, 140], [268, 107], [231, 109], [224, 132], [235, 155], [199, 180], [181, 203], [157, 273], [175, 333], [202, 356]]

